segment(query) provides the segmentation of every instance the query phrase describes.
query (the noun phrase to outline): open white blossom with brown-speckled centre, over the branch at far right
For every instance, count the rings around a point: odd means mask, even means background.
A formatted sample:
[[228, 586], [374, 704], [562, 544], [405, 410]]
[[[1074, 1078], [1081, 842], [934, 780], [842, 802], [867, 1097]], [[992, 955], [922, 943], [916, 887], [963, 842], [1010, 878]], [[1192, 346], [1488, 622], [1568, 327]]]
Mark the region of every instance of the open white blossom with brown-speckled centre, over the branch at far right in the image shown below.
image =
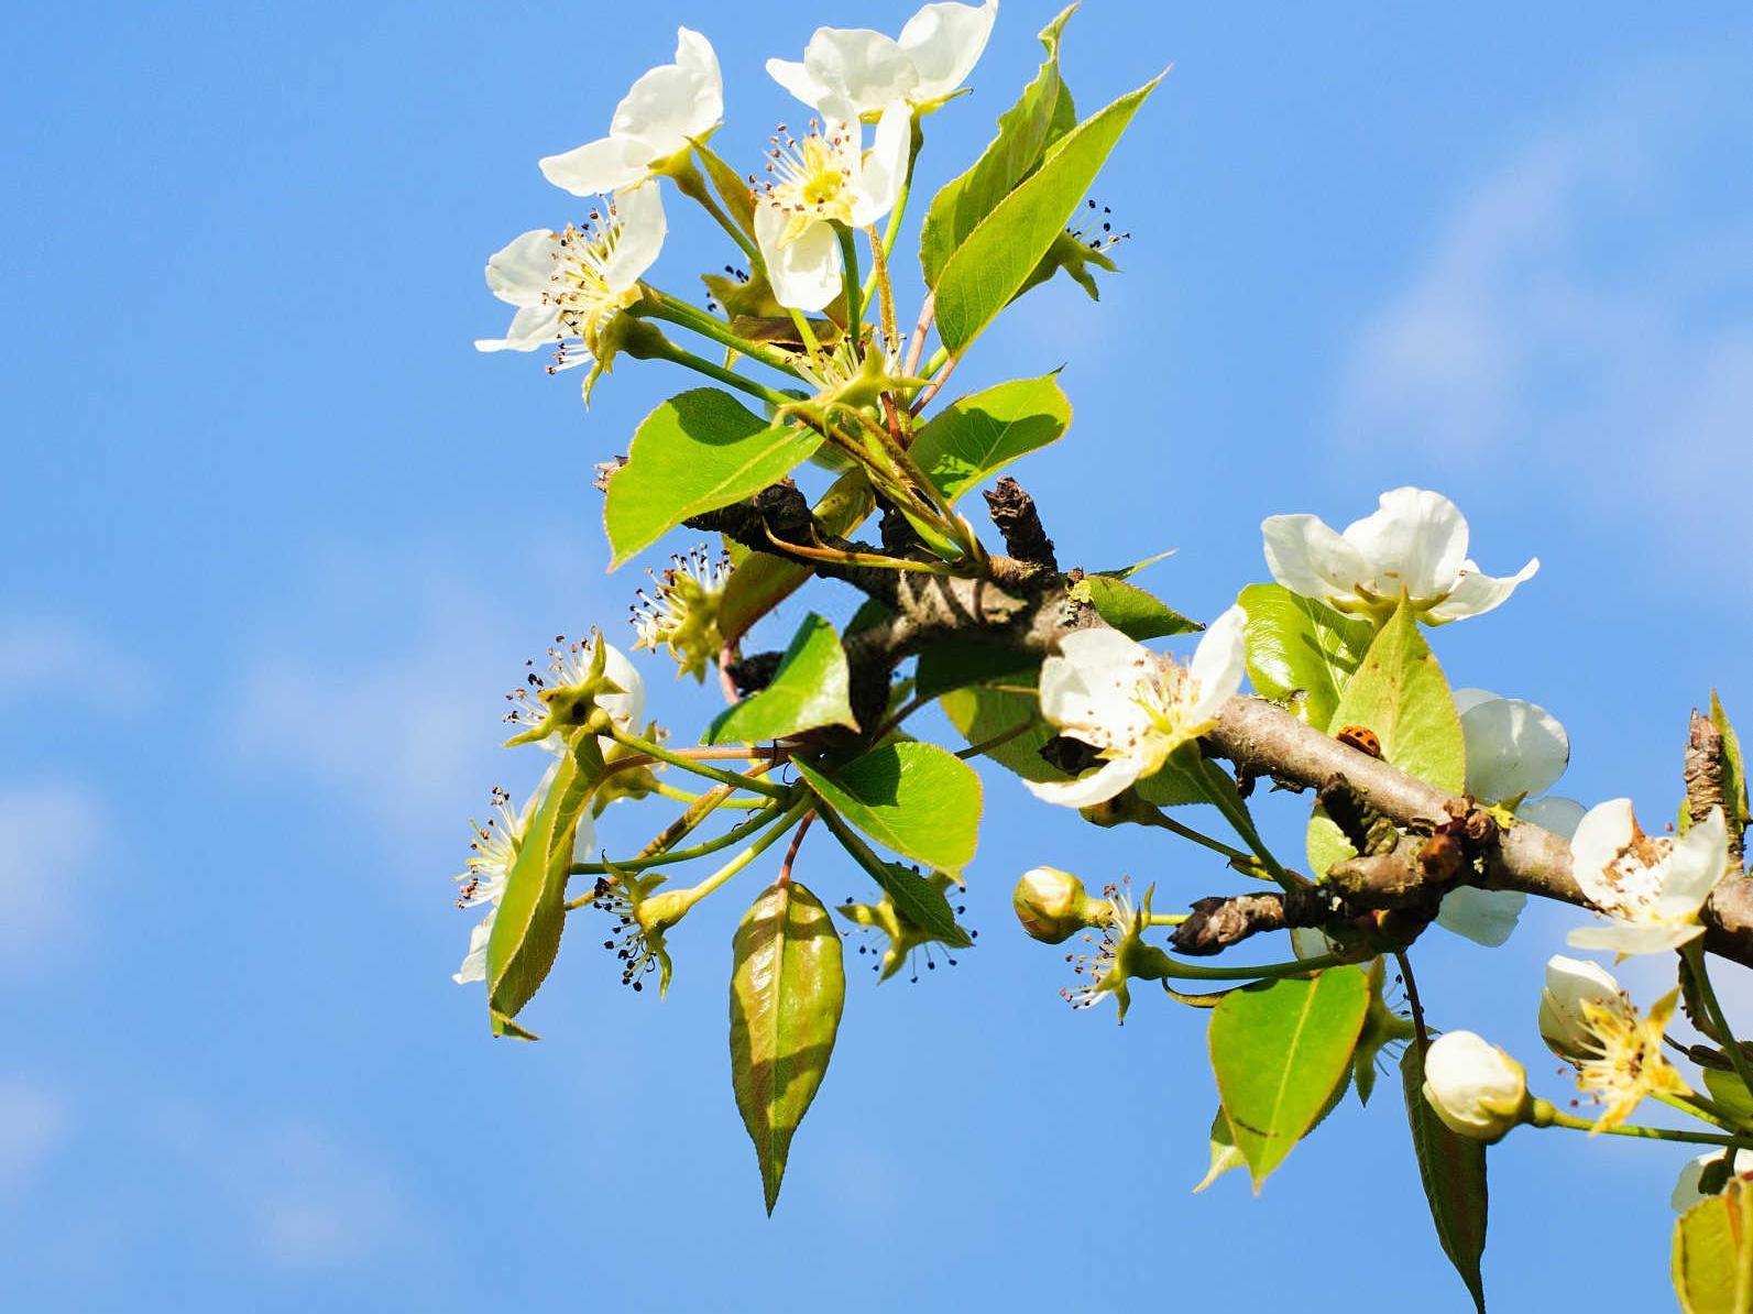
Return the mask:
[[1679, 839], [1646, 836], [1630, 799], [1590, 808], [1571, 837], [1571, 872], [1606, 923], [1578, 927], [1567, 943], [1620, 957], [1678, 950], [1704, 934], [1699, 909], [1727, 871], [1721, 808]]

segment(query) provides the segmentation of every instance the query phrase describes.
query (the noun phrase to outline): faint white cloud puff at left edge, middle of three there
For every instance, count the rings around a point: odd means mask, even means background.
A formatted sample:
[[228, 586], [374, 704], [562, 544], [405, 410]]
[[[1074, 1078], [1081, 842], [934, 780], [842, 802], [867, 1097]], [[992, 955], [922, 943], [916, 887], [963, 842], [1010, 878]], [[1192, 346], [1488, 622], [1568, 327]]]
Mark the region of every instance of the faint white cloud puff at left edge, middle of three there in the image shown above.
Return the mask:
[[77, 785], [0, 787], [0, 972], [67, 951], [77, 920], [79, 885], [103, 836], [103, 811]]

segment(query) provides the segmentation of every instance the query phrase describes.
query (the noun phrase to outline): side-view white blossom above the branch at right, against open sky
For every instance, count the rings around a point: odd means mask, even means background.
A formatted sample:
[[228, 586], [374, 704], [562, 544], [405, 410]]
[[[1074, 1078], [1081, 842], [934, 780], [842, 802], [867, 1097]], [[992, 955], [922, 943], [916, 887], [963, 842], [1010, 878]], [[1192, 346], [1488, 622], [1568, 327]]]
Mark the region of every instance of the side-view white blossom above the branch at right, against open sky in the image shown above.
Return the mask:
[[1476, 617], [1539, 569], [1536, 557], [1508, 578], [1481, 575], [1467, 557], [1467, 519], [1427, 489], [1383, 492], [1343, 533], [1315, 515], [1273, 515], [1260, 533], [1278, 583], [1346, 613], [1385, 615], [1406, 597], [1430, 624]]

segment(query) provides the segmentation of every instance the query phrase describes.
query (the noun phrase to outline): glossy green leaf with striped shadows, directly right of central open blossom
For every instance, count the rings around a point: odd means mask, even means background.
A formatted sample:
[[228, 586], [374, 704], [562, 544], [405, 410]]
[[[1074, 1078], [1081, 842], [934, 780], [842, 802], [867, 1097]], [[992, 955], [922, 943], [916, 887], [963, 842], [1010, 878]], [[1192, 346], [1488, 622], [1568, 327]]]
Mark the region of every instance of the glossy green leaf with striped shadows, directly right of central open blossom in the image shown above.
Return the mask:
[[1371, 624], [1278, 583], [1252, 583], [1236, 601], [1248, 613], [1248, 678], [1255, 690], [1288, 703], [1317, 731], [1331, 731], [1339, 696], [1374, 636]]

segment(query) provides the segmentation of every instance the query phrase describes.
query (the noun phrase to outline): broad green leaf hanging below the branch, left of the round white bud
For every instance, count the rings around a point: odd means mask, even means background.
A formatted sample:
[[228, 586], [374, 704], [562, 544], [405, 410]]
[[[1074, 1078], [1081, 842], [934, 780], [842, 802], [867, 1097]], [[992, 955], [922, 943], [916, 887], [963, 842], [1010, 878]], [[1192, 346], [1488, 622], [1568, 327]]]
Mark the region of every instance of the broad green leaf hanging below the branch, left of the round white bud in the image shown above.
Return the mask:
[[1211, 1069], [1253, 1190], [1327, 1107], [1364, 1028], [1369, 985], [1357, 967], [1262, 981], [1211, 1011]]

